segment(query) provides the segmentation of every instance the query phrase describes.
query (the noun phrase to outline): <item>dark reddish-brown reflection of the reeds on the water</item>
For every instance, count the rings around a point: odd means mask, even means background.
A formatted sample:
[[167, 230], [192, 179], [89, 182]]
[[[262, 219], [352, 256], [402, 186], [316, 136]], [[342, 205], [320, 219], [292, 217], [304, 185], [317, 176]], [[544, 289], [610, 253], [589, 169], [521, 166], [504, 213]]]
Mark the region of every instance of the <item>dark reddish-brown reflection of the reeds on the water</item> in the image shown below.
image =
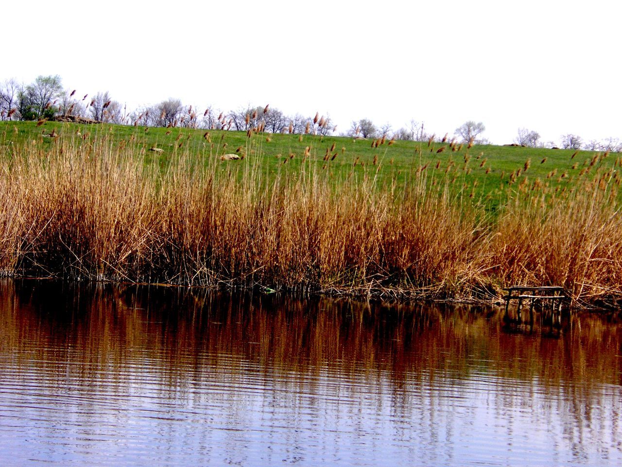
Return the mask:
[[[552, 390], [572, 382], [589, 399], [594, 385], [620, 384], [622, 370], [622, 327], [590, 314], [574, 316], [559, 339], [534, 339], [502, 333], [502, 313], [467, 306], [55, 283], [1, 290], [0, 356], [28, 350], [35, 364], [51, 366], [78, 359], [71, 368], [82, 373], [73, 376], [85, 380], [106, 370], [123, 384], [136, 359], [156, 362], [163, 385], [219, 366], [235, 375], [244, 362], [301, 378], [381, 373], [397, 386], [435, 375], [468, 379], [475, 370]], [[57, 376], [66, 377], [65, 367]]]

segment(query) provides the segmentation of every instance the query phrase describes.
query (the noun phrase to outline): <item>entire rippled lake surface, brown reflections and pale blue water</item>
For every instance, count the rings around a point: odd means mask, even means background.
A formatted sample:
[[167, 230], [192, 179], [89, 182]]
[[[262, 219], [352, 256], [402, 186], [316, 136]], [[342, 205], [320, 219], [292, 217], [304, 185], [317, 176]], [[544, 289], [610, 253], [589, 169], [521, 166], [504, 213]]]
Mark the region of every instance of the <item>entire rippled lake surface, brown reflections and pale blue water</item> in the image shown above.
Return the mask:
[[622, 325], [0, 283], [0, 465], [622, 465]]

